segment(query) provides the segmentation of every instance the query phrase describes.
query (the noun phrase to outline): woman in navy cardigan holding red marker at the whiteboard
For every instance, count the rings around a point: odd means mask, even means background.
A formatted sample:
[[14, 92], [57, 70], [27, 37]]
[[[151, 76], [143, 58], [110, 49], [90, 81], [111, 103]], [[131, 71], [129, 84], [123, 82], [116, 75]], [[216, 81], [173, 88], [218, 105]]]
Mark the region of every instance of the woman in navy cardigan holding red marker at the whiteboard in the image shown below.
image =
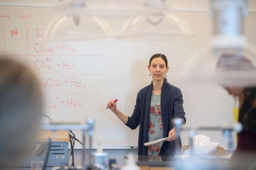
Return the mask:
[[[111, 100], [107, 107], [131, 129], [140, 125], [138, 137], [138, 155], [158, 156], [173, 155], [176, 131], [171, 121], [174, 117], [183, 118], [186, 122], [183, 109], [182, 93], [179, 88], [169, 84], [164, 78], [168, 72], [168, 62], [163, 54], [155, 54], [150, 58], [148, 71], [152, 76], [152, 83], [142, 88], [136, 99], [136, 105], [131, 117], [124, 115]], [[162, 137], [172, 136], [169, 141], [156, 143], [148, 147], [143, 143], [154, 141]], [[178, 139], [181, 146], [181, 141]]]

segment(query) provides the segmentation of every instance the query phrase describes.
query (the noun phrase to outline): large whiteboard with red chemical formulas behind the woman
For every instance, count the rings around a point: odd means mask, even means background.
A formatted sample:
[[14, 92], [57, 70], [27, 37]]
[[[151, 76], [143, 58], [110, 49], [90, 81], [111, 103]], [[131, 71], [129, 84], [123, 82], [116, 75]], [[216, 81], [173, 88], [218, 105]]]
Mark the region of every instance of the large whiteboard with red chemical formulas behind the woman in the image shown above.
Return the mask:
[[[111, 12], [109, 12], [111, 13]], [[95, 120], [93, 145], [136, 146], [138, 128], [130, 130], [109, 109], [107, 102], [118, 99], [118, 109], [131, 115], [137, 92], [151, 83], [147, 64], [152, 55], [167, 56], [168, 82], [184, 96], [188, 125], [216, 125], [233, 121], [234, 101], [220, 86], [190, 86], [172, 81], [182, 64], [209, 42], [212, 22], [206, 12], [175, 12], [190, 27], [194, 38], [164, 42], [133, 42], [120, 39], [42, 42], [50, 21], [58, 14], [53, 8], [0, 6], [0, 55], [27, 64], [38, 77], [44, 92], [44, 113], [53, 121], [84, 123]], [[104, 16], [120, 32], [129, 16]], [[249, 14], [245, 34], [256, 44], [256, 14]], [[204, 132], [224, 146], [222, 134]], [[76, 133], [81, 139], [80, 133]], [[183, 132], [188, 145], [188, 132]], [[82, 139], [81, 139], [82, 140]]]

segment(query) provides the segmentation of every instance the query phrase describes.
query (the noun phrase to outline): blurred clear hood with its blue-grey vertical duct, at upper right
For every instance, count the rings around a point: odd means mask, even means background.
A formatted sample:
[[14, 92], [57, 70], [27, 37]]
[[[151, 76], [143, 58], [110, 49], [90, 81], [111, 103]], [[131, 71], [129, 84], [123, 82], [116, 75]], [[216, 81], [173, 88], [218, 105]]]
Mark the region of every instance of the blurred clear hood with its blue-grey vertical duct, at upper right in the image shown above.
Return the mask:
[[191, 56], [178, 77], [190, 83], [255, 86], [256, 47], [242, 34], [246, 0], [212, 0], [212, 13], [211, 44]]

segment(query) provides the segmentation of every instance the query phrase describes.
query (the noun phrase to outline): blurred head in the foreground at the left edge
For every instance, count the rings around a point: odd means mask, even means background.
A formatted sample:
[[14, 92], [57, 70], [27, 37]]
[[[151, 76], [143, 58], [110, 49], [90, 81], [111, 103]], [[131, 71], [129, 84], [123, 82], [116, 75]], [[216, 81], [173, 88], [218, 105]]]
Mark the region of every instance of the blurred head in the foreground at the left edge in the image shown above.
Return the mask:
[[34, 74], [20, 63], [0, 58], [0, 169], [14, 166], [33, 147], [41, 104]]

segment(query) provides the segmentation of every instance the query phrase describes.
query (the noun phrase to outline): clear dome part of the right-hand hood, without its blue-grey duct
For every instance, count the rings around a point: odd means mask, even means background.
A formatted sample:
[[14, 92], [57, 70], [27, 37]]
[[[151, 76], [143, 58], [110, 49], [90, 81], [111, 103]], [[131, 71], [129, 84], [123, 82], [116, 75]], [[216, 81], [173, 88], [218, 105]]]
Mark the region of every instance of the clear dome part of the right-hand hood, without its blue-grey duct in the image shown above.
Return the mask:
[[190, 83], [255, 86], [255, 68], [256, 48], [252, 45], [241, 51], [204, 50], [188, 59], [180, 77]]

